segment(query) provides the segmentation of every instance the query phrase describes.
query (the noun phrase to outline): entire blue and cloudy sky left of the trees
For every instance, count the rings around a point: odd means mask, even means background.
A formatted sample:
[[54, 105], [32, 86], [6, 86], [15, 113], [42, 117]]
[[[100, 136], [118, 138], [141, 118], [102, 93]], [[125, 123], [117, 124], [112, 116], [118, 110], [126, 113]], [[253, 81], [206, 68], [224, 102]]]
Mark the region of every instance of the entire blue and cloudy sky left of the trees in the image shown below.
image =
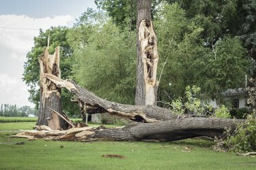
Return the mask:
[[0, 0], [0, 105], [34, 107], [22, 80], [33, 37], [40, 28], [72, 27], [87, 7], [96, 9], [94, 0]]

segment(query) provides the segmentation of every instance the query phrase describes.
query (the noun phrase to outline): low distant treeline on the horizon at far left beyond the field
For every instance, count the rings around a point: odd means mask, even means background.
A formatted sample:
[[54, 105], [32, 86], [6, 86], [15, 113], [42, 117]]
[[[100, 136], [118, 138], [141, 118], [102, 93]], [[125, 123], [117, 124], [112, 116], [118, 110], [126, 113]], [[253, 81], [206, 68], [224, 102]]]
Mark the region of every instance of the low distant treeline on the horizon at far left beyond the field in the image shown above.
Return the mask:
[[26, 117], [29, 115], [36, 115], [35, 109], [31, 108], [28, 105], [22, 107], [17, 107], [17, 105], [11, 104], [1, 104], [0, 107], [0, 116], [5, 117]]

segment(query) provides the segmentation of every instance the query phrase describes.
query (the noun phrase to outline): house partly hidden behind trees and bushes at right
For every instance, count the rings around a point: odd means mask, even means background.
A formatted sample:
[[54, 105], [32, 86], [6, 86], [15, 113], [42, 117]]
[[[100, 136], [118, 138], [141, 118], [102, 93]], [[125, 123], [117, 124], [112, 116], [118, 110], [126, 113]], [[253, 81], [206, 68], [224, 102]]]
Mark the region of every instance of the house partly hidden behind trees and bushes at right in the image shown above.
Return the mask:
[[[230, 106], [232, 109], [239, 109], [244, 107], [250, 108], [246, 102], [248, 93], [246, 92], [245, 88], [228, 89], [221, 95], [226, 101], [231, 101]], [[214, 108], [217, 107], [215, 100], [211, 100], [209, 104]]]

